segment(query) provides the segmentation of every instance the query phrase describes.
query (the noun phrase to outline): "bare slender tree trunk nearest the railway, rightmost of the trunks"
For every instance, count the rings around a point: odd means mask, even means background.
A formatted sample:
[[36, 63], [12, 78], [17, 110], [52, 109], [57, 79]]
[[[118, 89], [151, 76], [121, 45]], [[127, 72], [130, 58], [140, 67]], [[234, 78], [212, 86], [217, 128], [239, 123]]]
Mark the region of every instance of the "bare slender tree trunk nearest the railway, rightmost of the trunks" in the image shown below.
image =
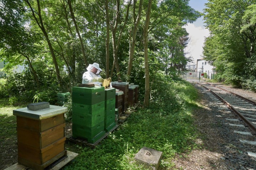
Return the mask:
[[148, 10], [146, 13], [145, 26], [143, 29], [143, 38], [144, 38], [144, 63], [145, 63], [145, 96], [144, 96], [144, 106], [149, 106], [149, 64], [148, 64], [148, 27], [150, 20], [150, 11], [151, 11], [152, 0], [148, 2]]

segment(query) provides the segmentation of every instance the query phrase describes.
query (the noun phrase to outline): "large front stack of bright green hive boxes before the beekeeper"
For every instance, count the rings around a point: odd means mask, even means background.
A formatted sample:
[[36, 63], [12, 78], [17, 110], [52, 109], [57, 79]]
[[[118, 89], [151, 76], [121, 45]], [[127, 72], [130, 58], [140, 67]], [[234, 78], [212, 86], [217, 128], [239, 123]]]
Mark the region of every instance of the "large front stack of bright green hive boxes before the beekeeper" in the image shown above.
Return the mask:
[[95, 143], [105, 135], [104, 87], [73, 87], [72, 133], [73, 137], [86, 138]]

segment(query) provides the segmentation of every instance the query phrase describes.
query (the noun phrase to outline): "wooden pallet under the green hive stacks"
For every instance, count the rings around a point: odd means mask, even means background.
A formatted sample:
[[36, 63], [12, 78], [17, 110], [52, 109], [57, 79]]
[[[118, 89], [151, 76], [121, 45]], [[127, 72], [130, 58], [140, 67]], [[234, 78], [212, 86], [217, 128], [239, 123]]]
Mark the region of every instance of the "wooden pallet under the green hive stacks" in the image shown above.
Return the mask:
[[73, 138], [72, 135], [66, 136], [66, 142], [73, 142], [73, 143], [76, 143], [76, 145], [79, 145], [79, 146], [86, 145], [86, 146], [89, 146], [91, 148], [95, 148], [105, 137], [107, 137], [112, 131], [117, 129], [118, 126], [119, 126], [119, 124], [114, 126], [113, 129], [111, 129], [109, 132], [106, 132], [106, 134], [104, 136], [102, 136], [99, 140], [97, 140], [95, 143], [89, 143], [87, 141], [87, 139], [83, 139], [83, 138]]

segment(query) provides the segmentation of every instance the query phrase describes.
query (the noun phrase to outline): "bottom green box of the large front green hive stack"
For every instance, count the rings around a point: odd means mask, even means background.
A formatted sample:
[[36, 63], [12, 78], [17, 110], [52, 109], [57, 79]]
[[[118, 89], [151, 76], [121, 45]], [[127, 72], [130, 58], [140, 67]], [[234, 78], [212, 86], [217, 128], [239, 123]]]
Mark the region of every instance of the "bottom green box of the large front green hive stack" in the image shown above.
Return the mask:
[[105, 132], [104, 121], [92, 127], [82, 126], [74, 123], [72, 124], [72, 136], [74, 138], [81, 137], [89, 140], [94, 138], [96, 135], [102, 133], [102, 131]]

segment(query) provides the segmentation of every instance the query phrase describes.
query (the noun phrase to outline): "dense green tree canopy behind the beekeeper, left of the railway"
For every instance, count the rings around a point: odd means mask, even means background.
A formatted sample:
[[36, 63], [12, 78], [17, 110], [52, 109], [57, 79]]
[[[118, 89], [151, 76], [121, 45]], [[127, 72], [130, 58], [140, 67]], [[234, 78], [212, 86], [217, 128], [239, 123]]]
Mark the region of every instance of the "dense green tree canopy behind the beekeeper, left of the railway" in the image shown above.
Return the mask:
[[[82, 73], [93, 62], [100, 64], [102, 77], [144, 87], [144, 62], [149, 63], [151, 75], [184, 70], [189, 61], [183, 52], [188, 33], [182, 27], [201, 13], [188, 2], [0, 0], [0, 60], [9, 62], [6, 72], [17, 64], [28, 66], [27, 74], [37, 89], [48, 86], [42, 81], [45, 73], [69, 90], [81, 83]], [[148, 58], [144, 58], [145, 43]]]

